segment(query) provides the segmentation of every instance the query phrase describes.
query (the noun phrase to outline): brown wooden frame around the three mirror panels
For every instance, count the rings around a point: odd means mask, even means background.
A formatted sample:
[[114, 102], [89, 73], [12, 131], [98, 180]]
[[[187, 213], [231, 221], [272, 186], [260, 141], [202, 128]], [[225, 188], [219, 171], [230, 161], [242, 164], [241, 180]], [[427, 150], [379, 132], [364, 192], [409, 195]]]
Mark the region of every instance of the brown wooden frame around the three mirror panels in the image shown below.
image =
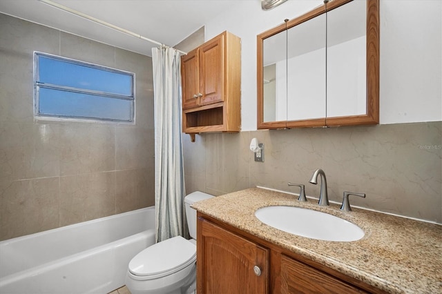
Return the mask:
[[[353, 0], [332, 0], [327, 3], [327, 11], [334, 10]], [[258, 130], [276, 128], [307, 128], [318, 126], [358, 126], [379, 124], [379, 1], [367, 0], [367, 59], [366, 91], [367, 113], [346, 117], [324, 117], [297, 121], [264, 121], [264, 83], [263, 83], [263, 43], [264, 40], [313, 19], [326, 12], [325, 5], [315, 8], [296, 19], [282, 23], [256, 36], [257, 48], [257, 92], [258, 92]]]

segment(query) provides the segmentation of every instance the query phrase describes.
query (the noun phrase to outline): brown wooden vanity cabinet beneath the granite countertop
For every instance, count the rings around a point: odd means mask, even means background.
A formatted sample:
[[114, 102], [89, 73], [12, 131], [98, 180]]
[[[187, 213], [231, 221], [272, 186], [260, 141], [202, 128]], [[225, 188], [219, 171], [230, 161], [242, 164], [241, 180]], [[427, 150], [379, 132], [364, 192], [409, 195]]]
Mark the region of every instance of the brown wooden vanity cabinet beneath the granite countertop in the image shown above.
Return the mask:
[[197, 231], [197, 293], [384, 293], [200, 212]]

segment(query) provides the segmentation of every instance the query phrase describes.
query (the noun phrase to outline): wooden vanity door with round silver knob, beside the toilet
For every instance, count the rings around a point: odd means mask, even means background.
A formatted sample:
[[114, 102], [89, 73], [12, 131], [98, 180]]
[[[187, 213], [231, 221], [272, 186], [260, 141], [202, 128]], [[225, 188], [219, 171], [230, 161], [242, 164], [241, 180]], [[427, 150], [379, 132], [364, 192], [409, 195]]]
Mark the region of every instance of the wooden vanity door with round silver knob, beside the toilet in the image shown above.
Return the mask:
[[197, 240], [197, 293], [269, 292], [269, 249], [201, 218]]

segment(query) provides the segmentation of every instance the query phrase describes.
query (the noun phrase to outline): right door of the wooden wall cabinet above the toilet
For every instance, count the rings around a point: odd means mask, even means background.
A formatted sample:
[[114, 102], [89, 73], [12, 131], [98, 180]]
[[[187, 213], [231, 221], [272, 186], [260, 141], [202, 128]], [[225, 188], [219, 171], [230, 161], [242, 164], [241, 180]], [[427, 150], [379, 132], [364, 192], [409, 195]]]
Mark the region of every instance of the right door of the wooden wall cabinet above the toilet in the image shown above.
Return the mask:
[[224, 36], [209, 41], [200, 48], [200, 104], [224, 100]]

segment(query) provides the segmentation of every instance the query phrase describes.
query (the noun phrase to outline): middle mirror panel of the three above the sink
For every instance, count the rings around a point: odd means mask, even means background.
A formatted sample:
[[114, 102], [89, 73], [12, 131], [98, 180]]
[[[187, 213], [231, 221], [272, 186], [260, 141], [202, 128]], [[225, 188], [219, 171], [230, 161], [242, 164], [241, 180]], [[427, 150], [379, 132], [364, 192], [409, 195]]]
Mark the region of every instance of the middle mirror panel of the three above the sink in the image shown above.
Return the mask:
[[325, 21], [320, 14], [287, 30], [288, 121], [325, 117]]

